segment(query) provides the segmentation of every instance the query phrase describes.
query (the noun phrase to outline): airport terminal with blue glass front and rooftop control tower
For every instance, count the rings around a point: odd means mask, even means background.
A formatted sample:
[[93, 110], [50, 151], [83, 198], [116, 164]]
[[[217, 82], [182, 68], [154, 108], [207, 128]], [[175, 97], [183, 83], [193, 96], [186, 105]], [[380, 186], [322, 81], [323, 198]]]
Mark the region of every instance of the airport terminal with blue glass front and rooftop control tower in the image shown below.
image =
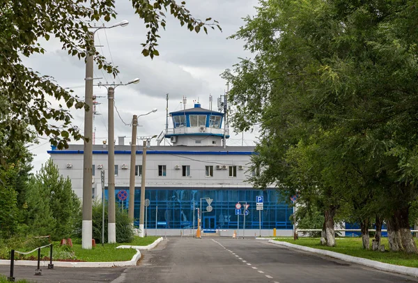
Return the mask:
[[[249, 170], [254, 146], [224, 146], [228, 130], [224, 127], [224, 114], [203, 109], [199, 103], [194, 108], [170, 113], [173, 128], [164, 132], [163, 139], [170, 141], [167, 146], [150, 146], [146, 151], [146, 228], [150, 235], [180, 235], [197, 226], [197, 209], [202, 208], [204, 231], [218, 230], [221, 236], [231, 236], [234, 230], [242, 228], [245, 211], [237, 211], [249, 204], [245, 216], [245, 235], [291, 236], [293, 225], [289, 218], [293, 208], [281, 201], [274, 188], [256, 190], [247, 179], [256, 174]], [[224, 127], [224, 128], [222, 128]], [[161, 144], [161, 140], [159, 144]], [[72, 189], [82, 198], [83, 145], [48, 151], [63, 176], [68, 176]], [[106, 144], [93, 145], [93, 199], [101, 199], [102, 190], [107, 199], [107, 153]], [[130, 170], [135, 171], [134, 217], [139, 219], [142, 145], [137, 146], [136, 165], [130, 168], [130, 144], [124, 138], [115, 146], [115, 194], [116, 204], [127, 208], [129, 203]], [[104, 188], [100, 171], [105, 171]], [[118, 199], [121, 190], [127, 192], [127, 199]], [[256, 197], [263, 196], [261, 222], [256, 210]], [[212, 199], [210, 204], [206, 198]], [[208, 208], [210, 206], [210, 208]], [[237, 215], [237, 213], [242, 213]], [[239, 221], [239, 222], [238, 222]]]

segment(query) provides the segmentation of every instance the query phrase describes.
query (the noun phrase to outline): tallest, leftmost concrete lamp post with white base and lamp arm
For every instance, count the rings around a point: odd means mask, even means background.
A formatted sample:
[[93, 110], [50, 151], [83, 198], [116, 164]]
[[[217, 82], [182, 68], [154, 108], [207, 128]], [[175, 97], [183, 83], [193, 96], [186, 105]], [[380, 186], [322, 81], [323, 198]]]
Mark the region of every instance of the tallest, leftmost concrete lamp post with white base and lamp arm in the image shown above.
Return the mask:
[[[126, 20], [114, 24], [113, 26], [92, 26], [94, 31], [88, 31], [87, 40], [94, 49], [94, 34], [99, 29], [111, 29], [116, 26], [127, 26]], [[82, 248], [91, 250], [91, 239], [93, 238], [93, 221], [91, 215], [91, 178], [93, 167], [93, 51], [86, 51], [86, 88], [85, 103], [88, 111], [84, 112], [84, 153], [83, 153], [83, 222], [82, 222]]]

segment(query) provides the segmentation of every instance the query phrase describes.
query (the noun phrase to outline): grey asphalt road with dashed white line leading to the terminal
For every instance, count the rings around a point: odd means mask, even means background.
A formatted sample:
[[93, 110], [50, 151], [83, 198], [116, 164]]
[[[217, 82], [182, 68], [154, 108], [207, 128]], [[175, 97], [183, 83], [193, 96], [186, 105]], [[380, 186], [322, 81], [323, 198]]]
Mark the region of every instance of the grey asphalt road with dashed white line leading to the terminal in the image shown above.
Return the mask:
[[[0, 273], [8, 275], [8, 266]], [[346, 261], [272, 245], [254, 238], [167, 238], [144, 251], [129, 268], [55, 268], [33, 275], [16, 266], [15, 277], [31, 282], [418, 282]]]

